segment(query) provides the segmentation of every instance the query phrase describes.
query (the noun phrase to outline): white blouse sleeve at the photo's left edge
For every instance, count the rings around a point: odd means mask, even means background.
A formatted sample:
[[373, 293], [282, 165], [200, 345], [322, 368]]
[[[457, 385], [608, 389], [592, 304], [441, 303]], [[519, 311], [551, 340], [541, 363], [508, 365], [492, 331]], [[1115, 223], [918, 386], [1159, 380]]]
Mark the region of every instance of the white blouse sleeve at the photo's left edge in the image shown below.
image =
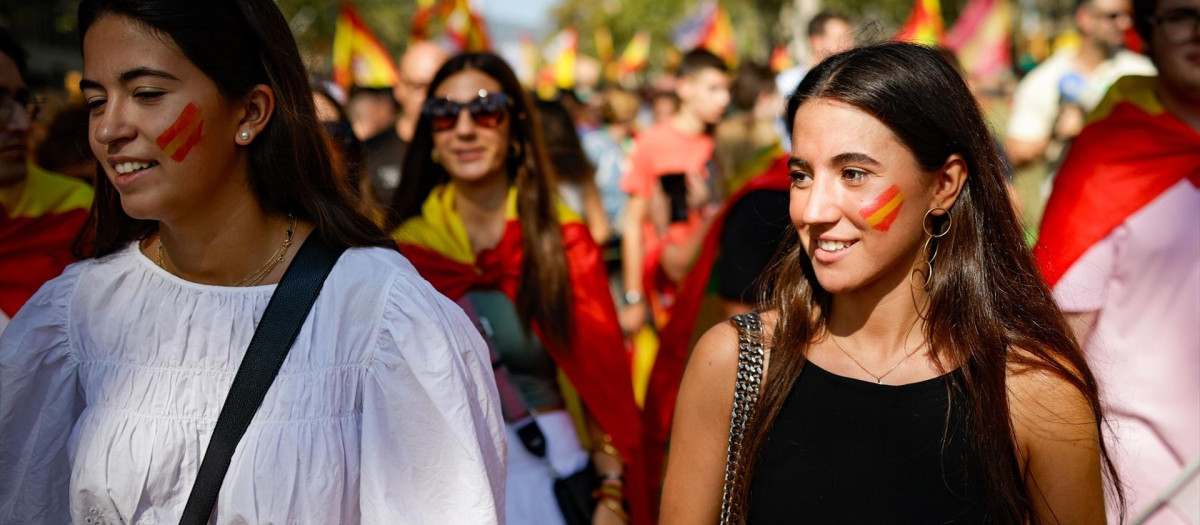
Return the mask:
[[47, 282], [0, 336], [0, 523], [70, 523], [67, 441], [84, 408], [70, 304], [86, 262]]

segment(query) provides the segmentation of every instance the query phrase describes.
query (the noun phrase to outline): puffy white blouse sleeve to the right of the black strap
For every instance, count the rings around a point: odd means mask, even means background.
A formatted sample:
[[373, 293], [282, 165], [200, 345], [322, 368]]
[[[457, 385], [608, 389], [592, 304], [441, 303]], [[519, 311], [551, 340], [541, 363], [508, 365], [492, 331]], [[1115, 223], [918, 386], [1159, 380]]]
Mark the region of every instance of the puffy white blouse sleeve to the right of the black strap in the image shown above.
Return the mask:
[[487, 346], [406, 266], [362, 387], [362, 521], [502, 523], [504, 421]]

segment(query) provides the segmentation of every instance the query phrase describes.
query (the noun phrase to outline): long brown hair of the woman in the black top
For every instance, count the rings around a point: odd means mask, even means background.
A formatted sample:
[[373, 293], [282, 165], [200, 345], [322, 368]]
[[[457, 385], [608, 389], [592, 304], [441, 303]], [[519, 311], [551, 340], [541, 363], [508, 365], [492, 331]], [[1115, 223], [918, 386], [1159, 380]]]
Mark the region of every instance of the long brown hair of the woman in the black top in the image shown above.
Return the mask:
[[[979, 461], [989, 523], [1036, 523], [1020, 477], [1006, 376], [1010, 366], [1050, 372], [1087, 399], [1100, 434], [1100, 454], [1123, 508], [1117, 475], [1104, 447], [1096, 380], [1066, 319], [1055, 307], [1024, 242], [1004, 188], [1003, 165], [979, 107], [961, 76], [937, 52], [886, 43], [834, 55], [810, 71], [788, 99], [788, 133], [797, 109], [811, 98], [851, 104], [883, 122], [926, 171], [953, 153], [967, 164], [952, 209], [953, 228], [937, 240], [925, 309], [925, 338], [935, 363], [959, 363], [950, 374], [952, 403], [968, 408], [968, 449]], [[775, 266], [776, 309], [769, 374], [744, 441], [746, 478], [775, 417], [800, 374], [809, 346], [824, 336], [832, 295], [821, 288], [794, 235]], [[1021, 352], [1009, 351], [1020, 348]], [[749, 483], [740, 502], [748, 501]]]

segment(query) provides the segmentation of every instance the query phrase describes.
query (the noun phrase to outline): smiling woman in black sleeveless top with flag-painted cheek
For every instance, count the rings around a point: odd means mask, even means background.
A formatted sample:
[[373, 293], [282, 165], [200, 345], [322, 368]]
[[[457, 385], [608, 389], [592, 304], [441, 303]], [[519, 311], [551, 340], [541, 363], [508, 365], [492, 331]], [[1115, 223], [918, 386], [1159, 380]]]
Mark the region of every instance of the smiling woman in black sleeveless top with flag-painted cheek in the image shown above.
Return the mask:
[[1103, 523], [1096, 382], [959, 73], [853, 49], [787, 116], [797, 235], [761, 318], [696, 345], [666, 523]]

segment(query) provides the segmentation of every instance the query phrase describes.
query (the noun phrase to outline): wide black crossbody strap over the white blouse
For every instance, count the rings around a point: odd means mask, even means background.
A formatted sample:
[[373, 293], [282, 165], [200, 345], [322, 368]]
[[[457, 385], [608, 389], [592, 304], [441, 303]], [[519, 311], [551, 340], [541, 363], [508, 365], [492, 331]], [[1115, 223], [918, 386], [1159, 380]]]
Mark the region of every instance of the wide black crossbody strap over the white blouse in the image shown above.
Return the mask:
[[212, 437], [204, 452], [180, 525], [209, 523], [238, 441], [263, 404], [266, 391], [283, 366], [283, 358], [320, 294], [325, 277], [342, 252], [325, 246], [316, 234], [310, 235], [283, 272], [283, 278], [275, 288], [263, 319], [250, 339], [250, 348], [238, 367], [238, 374], [233, 378], [229, 396], [221, 406], [221, 415], [217, 416], [216, 428], [212, 429]]

